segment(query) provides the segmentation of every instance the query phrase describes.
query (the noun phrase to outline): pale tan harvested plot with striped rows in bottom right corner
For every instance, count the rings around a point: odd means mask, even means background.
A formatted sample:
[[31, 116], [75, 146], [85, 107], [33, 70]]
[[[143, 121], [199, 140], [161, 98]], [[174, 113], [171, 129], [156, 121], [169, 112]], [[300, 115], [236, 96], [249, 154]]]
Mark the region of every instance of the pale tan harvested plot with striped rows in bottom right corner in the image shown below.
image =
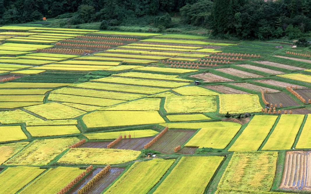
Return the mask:
[[287, 151], [280, 188], [311, 191], [310, 167], [310, 151]]

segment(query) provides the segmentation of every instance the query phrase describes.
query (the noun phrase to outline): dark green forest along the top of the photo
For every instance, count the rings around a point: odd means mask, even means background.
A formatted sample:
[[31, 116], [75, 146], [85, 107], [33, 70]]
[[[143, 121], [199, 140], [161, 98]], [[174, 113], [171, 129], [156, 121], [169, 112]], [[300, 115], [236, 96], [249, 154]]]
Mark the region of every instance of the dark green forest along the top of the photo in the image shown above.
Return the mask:
[[[311, 36], [311, 0], [0, 0], [0, 24], [42, 17], [59, 24], [100, 22], [101, 29], [151, 25], [159, 32], [178, 25], [208, 29], [215, 38], [288, 39]], [[176, 25], [176, 24], [174, 24]]]

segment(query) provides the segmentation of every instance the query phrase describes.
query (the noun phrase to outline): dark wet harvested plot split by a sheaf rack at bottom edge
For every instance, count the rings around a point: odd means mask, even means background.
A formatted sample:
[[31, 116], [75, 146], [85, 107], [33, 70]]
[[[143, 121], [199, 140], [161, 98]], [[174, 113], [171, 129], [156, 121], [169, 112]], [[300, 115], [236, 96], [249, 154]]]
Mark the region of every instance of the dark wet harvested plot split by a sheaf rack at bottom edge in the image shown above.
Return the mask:
[[[102, 168], [95, 169], [91, 174], [87, 175], [86, 178], [77, 184], [76, 187], [72, 188], [68, 194], [76, 194], [86, 183], [91, 180]], [[122, 172], [124, 168], [111, 168], [107, 174], [105, 174], [98, 182], [96, 182], [91, 189], [86, 192], [90, 194], [100, 194], [106, 187], [110, 185]]]

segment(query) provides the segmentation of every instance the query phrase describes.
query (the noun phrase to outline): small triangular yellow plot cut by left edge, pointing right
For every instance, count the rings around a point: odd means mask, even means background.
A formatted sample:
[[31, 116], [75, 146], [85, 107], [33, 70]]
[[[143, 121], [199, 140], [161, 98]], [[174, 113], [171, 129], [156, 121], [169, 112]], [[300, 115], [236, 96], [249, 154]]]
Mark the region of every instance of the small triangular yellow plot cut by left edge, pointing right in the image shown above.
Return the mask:
[[10, 157], [20, 151], [29, 142], [8, 143], [0, 145], [0, 165], [7, 161]]

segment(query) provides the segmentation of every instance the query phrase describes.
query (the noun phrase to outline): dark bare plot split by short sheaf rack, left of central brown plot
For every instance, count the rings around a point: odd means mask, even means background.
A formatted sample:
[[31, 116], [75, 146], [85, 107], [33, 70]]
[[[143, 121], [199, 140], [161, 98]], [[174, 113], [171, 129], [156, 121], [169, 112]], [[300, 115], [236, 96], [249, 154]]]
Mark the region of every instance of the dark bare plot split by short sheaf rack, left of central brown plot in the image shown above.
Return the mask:
[[[135, 139], [122, 139], [121, 142], [116, 144], [114, 149], [125, 149], [125, 150], [136, 150], [139, 151], [144, 148], [148, 142], [153, 138], [135, 138]], [[107, 148], [109, 142], [86, 142], [80, 147], [91, 147], [91, 148]]]

